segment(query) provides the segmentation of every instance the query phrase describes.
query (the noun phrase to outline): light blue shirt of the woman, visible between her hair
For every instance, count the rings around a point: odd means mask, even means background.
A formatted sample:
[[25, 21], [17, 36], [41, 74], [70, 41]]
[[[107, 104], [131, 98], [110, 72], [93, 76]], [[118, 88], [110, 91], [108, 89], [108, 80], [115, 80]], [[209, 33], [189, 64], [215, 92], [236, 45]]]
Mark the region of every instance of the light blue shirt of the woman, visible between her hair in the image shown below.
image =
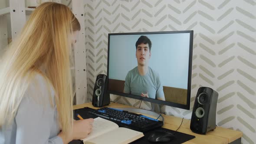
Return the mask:
[[16, 144], [63, 144], [59, 134], [54, 92], [36, 75], [20, 102], [15, 121]]

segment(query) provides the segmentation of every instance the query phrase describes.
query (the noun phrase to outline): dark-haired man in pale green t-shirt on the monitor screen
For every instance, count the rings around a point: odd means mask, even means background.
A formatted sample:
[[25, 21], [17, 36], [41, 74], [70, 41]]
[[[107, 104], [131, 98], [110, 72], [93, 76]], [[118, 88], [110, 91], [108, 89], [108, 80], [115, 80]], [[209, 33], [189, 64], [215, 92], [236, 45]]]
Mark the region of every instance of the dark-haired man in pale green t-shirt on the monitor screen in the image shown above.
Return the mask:
[[135, 46], [138, 66], [126, 75], [124, 92], [165, 101], [160, 77], [148, 66], [151, 57], [150, 39], [147, 36], [141, 36]]

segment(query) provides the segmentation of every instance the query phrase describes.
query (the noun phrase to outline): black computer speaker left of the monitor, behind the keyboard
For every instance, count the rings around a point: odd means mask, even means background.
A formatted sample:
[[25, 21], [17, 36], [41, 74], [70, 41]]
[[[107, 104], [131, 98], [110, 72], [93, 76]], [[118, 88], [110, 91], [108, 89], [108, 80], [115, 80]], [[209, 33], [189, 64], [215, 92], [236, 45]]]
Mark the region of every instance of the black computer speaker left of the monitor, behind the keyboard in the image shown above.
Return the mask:
[[103, 107], [110, 104], [110, 97], [107, 94], [107, 75], [99, 74], [96, 78], [92, 95], [92, 105], [95, 107]]

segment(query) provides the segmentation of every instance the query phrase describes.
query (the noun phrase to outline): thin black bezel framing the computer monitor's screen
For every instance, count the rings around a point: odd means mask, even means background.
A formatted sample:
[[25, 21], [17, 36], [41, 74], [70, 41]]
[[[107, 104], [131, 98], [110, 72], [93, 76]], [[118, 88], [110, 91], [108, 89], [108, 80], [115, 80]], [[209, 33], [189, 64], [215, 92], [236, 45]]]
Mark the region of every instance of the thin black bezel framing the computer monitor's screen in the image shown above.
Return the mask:
[[192, 51], [193, 51], [193, 37], [194, 37], [194, 31], [193, 30], [183, 30], [183, 31], [163, 31], [163, 32], [137, 32], [137, 33], [108, 33], [108, 65], [107, 65], [107, 79], [108, 79], [108, 72], [109, 72], [109, 38], [112, 35], [143, 35], [143, 34], [164, 34], [164, 33], [190, 33], [190, 45], [189, 45], [189, 64], [188, 64], [188, 81], [187, 81], [187, 105], [182, 105], [178, 103], [174, 103], [171, 101], [161, 101], [158, 99], [152, 99], [152, 98], [145, 98], [138, 95], [131, 95], [127, 93], [122, 92], [116, 92], [116, 91], [110, 91], [108, 90], [108, 81], [106, 83], [106, 91], [107, 94], [114, 94], [114, 95], [120, 95], [125, 96], [127, 98], [135, 98], [142, 101], [149, 101], [152, 103], [160, 104], [160, 105], [167, 105], [172, 106], [176, 108], [182, 108], [182, 109], [190, 109], [190, 94], [191, 94], [191, 71], [192, 71]]

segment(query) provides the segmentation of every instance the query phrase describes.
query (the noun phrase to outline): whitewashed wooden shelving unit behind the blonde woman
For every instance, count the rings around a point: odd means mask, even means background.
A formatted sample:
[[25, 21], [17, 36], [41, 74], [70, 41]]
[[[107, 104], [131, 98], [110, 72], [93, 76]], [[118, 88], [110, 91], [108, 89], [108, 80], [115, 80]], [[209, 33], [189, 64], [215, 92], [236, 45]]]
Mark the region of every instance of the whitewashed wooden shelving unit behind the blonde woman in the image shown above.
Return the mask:
[[[0, 50], [7, 47], [26, 23], [27, 18], [35, 10], [29, 8], [26, 3], [35, 3], [35, 0], [3, 0], [0, 1]], [[62, 3], [62, 0], [49, 0], [50, 2]], [[63, 3], [66, 1], [63, 1]], [[71, 65], [72, 73], [75, 74], [76, 101], [75, 104], [87, 102], [86, 80], [86, 54], [85, 54], [85, 26], [83, 0], [72, 0], [72, 11], [81, 24], [79, 38], [74, 45], [75, 63]], [[35, 3], [36, 4], [36, 3]], [[37, 7], [37, 6], [33, 6]], [[9, 30], [7, 30], [9, 29]]]

